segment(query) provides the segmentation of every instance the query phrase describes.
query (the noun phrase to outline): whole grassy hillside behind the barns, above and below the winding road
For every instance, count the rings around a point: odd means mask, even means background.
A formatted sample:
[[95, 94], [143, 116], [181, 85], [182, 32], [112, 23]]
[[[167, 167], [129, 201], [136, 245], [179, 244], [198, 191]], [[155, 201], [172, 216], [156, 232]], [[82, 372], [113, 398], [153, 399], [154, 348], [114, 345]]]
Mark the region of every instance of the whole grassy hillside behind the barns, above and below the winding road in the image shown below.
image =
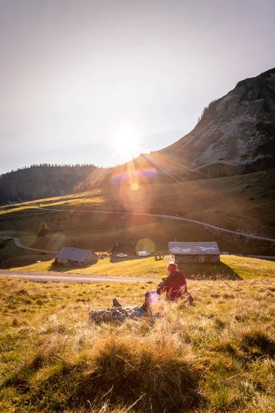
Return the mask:
[[[69, 243], [76, 248], [108, 251], [115, 242], [141, 240], [148, 244], [146, 249], [150, 252], [164, 251], [168, 248], [168, 242], [177, 238], [187, 242], [217, 241], [221, 251], [232, 254], [273, 255], [274, 242], [213, 232], [199, 224], [139, 215], [80, 211], [177, 213], [183, 218], [223, 228], [275, 237], [273, 178], [272, 171], [265, 171], [170, 184], [142, 182], [137, 191], [131, 189], [129, 180], [115, 184], [109, 182], [106, 187], [94, 191], [0, 207], [0, 233], [19, 237], [23, 245], [48, 251], [59, 251]], [[44, 213], [36, 207], [37, 203], [59, 211]], [[36, 235], [42, 220], [50, 231], [45, 238]], [[50, 257], [25, 253], [10, 244], [0, 245], [0, 268], [25, 266], [45, 258]]]

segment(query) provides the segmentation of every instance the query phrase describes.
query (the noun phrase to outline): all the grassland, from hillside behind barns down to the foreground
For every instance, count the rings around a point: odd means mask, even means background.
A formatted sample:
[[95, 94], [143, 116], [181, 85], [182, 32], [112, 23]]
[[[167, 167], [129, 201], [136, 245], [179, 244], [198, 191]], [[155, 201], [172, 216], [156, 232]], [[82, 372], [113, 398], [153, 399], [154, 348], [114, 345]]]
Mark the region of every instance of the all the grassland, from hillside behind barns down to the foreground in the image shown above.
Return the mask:
[[[269, 172], [215, 180], [129, 182], [0, 207], [0, 233], [32, 248], [108, 251], [141, 242], [213, 241], [221, 251], [274, 255], [274, 244], [213, 233], [201, 225], [89, 211], [177, 213], [223, 228], [274, 237]], [[44, 212], [36, 208], [56, 208]], [[64, 211], [68, 209], [69, 211]], [[39, 213], [36, 215], [36, 213]], [[41, 220], [47, 237], [37, 237]], [[0, 268], [155, 278], [155, 282], [34, 284], [0, 277], [0, 412], [275, 412], [275, 262], [222, 255], [221, 264], [182, 264], [194, 306], [153, 303], [153, 319], [88, 321], [91, 308], [142, 304], [166, 274], [153, 257], [103, 259], [86, 268], [52, 265], [54, 254], [0, 240]], [[41, 261], [41, 263], [37, 263]], [[87, 299], [89, 304], [77, 300]]]

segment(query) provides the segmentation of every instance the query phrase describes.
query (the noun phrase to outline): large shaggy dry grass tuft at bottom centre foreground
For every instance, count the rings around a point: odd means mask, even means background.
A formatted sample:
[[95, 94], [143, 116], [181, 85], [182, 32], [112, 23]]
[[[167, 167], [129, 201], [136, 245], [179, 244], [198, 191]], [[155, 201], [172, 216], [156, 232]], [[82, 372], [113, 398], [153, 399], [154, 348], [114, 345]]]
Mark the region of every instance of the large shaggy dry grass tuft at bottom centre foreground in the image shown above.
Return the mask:
[[[168, 343], [167, 343], [168, 341]], [[96, 388], [112, 388], [115, 398], [130, 401], [142, 397], [144, 409], [177, 409], [199, 402], [197, 374], [190, 349], [172, 343], [170, 337], [116, 339], [111, 335], [94, 357]]]

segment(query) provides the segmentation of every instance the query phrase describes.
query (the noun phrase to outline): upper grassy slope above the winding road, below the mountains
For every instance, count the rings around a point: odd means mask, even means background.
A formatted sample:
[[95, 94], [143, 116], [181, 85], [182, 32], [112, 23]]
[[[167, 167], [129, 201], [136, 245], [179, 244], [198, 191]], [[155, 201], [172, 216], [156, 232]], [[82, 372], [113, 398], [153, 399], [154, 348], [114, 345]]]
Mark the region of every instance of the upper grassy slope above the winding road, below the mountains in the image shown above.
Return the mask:
[[[178, 213], [236, 230], [274, 234], [274, 171], [227, 178], [153, 184], [142, 182], [131, 190], [131, 180], [104, 185], [101, 189], [0, 207], [0, 217], [27, 213], [41, 207]], [[137, 182], [135, 182], [137, 183]], [[173, 196], [171, 196], [173, 194]]]

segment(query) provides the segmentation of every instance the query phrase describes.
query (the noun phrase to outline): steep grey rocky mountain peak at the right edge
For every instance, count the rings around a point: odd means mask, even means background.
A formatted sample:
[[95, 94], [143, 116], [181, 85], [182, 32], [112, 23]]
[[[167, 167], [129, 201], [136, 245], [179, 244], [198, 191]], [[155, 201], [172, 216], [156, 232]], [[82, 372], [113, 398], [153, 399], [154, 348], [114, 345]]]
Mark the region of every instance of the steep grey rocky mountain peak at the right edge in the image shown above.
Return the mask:
[[195, 128], [159, 151], [192, 172], [225, 176], [268, 169], [275, 158], [275, 68], [236, 84], [203, 110]]

